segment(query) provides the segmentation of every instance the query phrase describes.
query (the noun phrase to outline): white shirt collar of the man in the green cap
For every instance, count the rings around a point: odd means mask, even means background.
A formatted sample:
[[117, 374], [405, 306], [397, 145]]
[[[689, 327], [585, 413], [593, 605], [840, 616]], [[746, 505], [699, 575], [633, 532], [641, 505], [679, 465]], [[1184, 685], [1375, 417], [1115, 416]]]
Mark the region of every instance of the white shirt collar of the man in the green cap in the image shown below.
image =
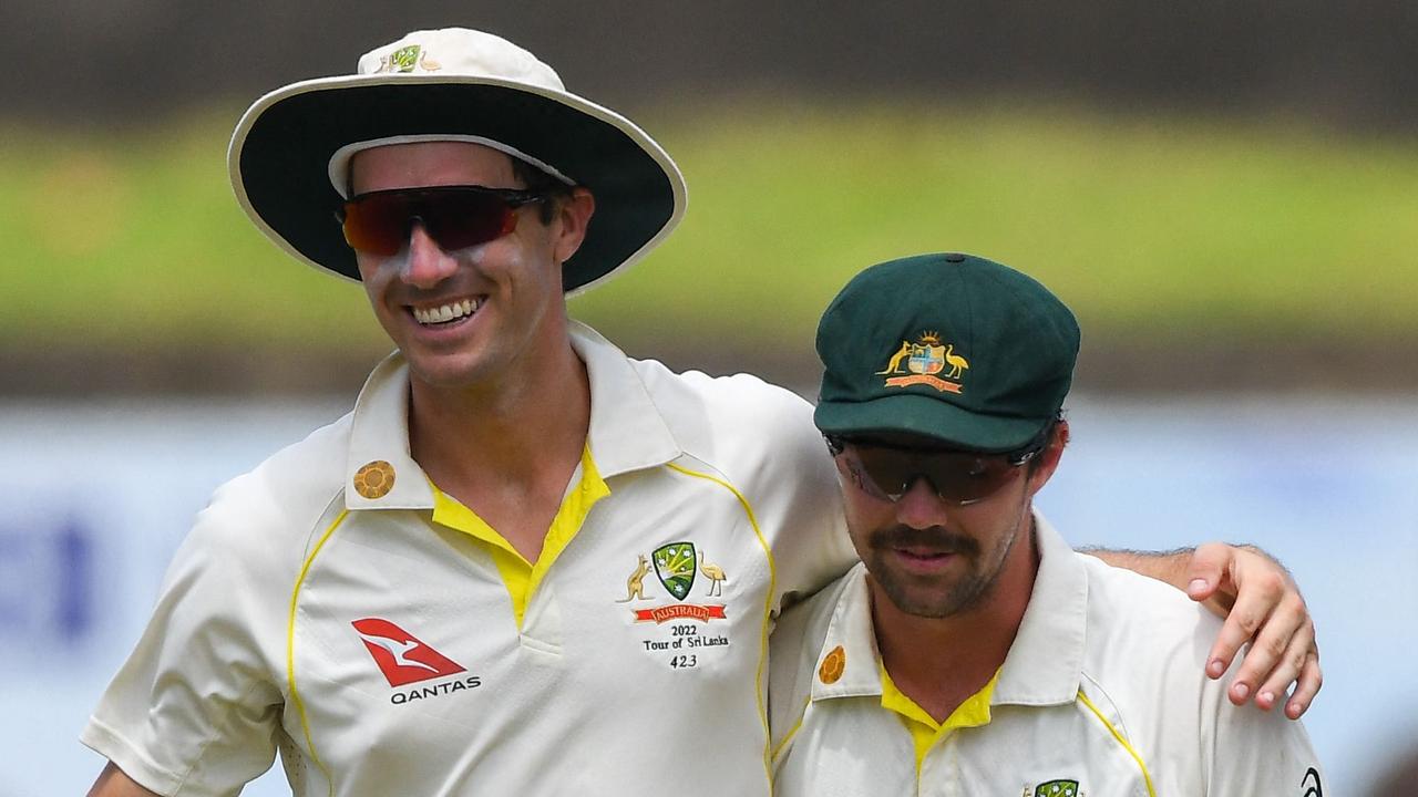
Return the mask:
[[[997, 675], [991, 705], [1069, 703], [1082, 681], [1088, 573], [1048, 520], [1035, 513], [1034, 523], [1039, 572], [1020, 631]], [[882, 693], [866, 567], [858, 564], [844, 579], [813, 674], [814, 701]]]

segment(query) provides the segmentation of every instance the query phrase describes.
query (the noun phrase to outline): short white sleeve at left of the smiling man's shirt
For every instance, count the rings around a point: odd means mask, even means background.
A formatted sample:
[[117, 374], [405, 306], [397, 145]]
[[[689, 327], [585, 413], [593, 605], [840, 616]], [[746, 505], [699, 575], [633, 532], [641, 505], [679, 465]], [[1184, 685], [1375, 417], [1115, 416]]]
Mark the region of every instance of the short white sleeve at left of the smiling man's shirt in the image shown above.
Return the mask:
[[281, 577], [224, 515], [218, 494], [81, 733], [130, 779], [170, 797], [235, 794], [275, 757], [284, 699], [257, 630], [285, 627], [274, 597]]

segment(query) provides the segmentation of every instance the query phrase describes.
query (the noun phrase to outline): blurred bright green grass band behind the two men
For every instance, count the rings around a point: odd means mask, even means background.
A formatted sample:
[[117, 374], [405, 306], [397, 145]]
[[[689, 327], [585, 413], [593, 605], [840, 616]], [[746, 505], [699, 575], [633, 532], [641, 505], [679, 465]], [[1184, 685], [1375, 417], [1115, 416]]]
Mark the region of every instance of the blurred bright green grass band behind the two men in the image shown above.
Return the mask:
[[[150, 129], [0, 129], [0, 336], [123, 350], [381, 350], [357, 285], [238, 210], [234, 112]], [[1280, 121], [1031, 105], [776, 104], [637, 113], [689, 211], [573, 301], [617, 338], [807, 350], [858, 269], [983, 254], [1048, 284], [1093, 340], [1418, 333], [1418, 146]], [[632, 346], [631, 346], [632, 347]]]

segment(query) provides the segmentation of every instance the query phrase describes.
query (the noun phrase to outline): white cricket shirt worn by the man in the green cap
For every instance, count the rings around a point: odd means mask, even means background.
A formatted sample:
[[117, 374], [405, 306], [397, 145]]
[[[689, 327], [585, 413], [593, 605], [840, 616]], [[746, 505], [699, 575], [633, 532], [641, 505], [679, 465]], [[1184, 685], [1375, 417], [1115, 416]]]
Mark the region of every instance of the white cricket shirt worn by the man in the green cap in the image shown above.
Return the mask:
[[1300, 797], [1319, 784], [1300, 723], [1234, 706], [1229, 678], [1205, 678], [1219, 620], [1035, 523], [1042, 562], [1018, 635], [995, 679], [926, 737], [919, 769], [902, 712], [916, 706], [883, 682], [865, 566], [784, 613], [769, 689], [778, 797]]

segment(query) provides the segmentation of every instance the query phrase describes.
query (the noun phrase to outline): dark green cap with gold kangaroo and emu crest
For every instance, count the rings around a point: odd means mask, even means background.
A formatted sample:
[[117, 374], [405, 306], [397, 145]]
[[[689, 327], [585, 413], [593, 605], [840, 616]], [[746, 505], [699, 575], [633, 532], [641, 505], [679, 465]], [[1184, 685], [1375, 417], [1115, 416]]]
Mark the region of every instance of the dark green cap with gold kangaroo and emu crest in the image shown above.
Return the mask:
[[1012, 268], [963, 254], [882, 262], [822, 315], [814, 420], [830, 437], [1017, 451], [1058, 416], [1078, 345], [1073, 313]]

